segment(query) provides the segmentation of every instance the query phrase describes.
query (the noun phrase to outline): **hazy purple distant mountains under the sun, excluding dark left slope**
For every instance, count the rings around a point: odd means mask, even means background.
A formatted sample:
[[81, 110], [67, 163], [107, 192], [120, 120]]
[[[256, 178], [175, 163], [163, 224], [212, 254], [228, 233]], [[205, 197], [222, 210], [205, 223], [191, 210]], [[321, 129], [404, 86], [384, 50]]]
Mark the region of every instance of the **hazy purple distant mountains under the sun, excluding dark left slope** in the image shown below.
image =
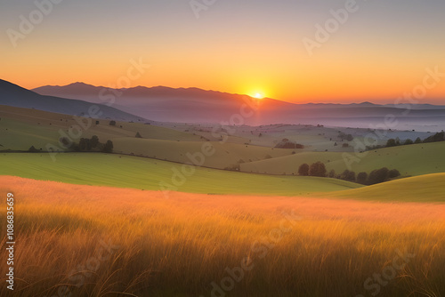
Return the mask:
[[[76, 83], [65, 86], [43, 86], [34, 89], [44, 95], [100, 103], [113, 98], [113, 107], [137, 116], [165, 122], [234, 123], [234, 124], [325, 124], [411, 130], [445, 128], [445, 107], [433, 105], [378, 105], [372, 102], [352, 104], [293, 104], [247, 95], [205, 91], [198, 88], [137, 86], [128, 89], [107, 89], [102, 86]], [[257, 108], [251, 115], [251, 107]], [[244, 113], [244, 114], [243, 114]], [[243, 114], [243, 115], [242, 115]], [[239, 115], [242, 121], [237, 122]], [[388, 116], [395, 124], [387, 124]]]

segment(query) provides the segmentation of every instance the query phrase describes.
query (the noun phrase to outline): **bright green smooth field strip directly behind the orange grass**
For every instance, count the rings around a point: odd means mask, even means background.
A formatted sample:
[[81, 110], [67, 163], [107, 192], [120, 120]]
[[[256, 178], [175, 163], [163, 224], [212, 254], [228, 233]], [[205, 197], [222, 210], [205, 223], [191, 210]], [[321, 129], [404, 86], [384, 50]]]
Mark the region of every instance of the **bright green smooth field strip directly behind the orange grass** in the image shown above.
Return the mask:
[[[0, 154], [0, 175], [74, 184], [158, 190], [159, 182], [172, 184], [180, 164], [141, 157], [94, 153], [59, 154], [53, 162], [47, 154]], [[195, 168], [195, 167], [192, 167]], [[235, 173], [207, 168], [196, 172], [175, 190], [194, 193], [307, 195], [360, 188], [360, 185], [333, 179], [268, 176]]]

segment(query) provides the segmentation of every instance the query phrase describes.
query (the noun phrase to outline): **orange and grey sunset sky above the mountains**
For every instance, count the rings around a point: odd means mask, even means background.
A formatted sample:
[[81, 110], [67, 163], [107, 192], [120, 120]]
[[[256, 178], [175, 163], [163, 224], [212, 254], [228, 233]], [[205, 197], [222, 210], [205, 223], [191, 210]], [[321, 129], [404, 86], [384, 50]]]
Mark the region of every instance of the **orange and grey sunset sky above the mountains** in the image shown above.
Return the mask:
[[443, 0], [2, 1], [0, 78], [28, 89], [165, 85], [300, 103], [392, 103], [417, 92], [445, 105], [444, 13]]

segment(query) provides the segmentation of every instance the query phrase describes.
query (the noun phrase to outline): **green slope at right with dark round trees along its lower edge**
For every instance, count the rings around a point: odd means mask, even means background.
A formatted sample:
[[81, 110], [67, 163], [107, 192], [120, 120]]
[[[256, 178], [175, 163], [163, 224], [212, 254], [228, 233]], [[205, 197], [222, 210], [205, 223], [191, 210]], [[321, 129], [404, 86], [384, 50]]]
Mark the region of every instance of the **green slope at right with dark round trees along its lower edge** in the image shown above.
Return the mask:
[[[404, 176], [443, 173], [445, 172], [444, 150], [445, 142], [376, 149], [369, 151], [368, 155], [359, 154], [360, 162], [352, 163], [352, 171], [370, 173], [374, 169], [388, 167], [399, 170]], [[355, 155], [351, 154], [351, 156]], [[243, 164], [241, 170], [253, 173], [296, 173], [303, 163], [311, 164], [316, 161], [324, 162], [328, 171], [334, 169], [336, 173], [342, 173], [347, 169], [343, 153], [304, 152]]]

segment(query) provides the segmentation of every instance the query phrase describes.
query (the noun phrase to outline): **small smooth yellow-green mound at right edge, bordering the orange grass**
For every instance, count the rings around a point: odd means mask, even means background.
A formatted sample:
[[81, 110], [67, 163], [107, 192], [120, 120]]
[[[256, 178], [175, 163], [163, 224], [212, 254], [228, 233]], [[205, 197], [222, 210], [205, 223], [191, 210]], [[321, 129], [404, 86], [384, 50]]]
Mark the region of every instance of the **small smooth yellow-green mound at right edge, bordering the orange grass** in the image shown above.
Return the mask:
[[426, 174], [377, 185], [338, 191], [329, 197], [379, 201], [445, 202], [445, 173]]

